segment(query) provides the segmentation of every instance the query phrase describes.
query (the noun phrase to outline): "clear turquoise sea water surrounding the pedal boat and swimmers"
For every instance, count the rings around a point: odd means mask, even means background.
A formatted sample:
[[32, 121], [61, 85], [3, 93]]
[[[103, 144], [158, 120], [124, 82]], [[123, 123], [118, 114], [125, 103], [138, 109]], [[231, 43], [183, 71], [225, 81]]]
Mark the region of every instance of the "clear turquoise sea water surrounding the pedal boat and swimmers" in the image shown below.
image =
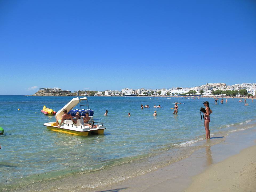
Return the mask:
[[[0, 95], [0, 126], [5, 130], [0, 135], [0, 188], [15, 189], [32, 182], [100, 171], [167, 149], [182, 151], [182, 146], [185, 149], [205, 138], [199, 109], [203, 101], [214, 103], [213, 98], [89, 97], [94, 121], [103, 122], [107, 128], [103, 135], [79, 137], [47, 130], [43, 124], [55, 121], [55, 117], [42, 114], [43, 105], [58, 111], [72, 98]], [[244, 106], [238, 100], [229, 98], [223, 105], [210, 105], [211, 134], [228, 133], [233, 124], [256, 119], [255, 103], [247, 99], [249, 106]], [[178, 115], [170, 109], [174, 102], [184, 103], [179, 105]], [[141, 104], [150, 108], [141, 109]], [[154, 105], [163, 108], [155, 109]], [[108, 116], [104, 116], [105, 110]], [[154, 110], [157, 117], [153, 117]]]

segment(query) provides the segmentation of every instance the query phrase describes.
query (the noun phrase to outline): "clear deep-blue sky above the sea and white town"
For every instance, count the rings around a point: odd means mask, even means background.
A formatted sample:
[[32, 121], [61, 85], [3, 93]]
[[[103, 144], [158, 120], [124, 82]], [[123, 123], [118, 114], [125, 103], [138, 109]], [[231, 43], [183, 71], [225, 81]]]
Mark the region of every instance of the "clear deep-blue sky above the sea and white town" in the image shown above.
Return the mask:
[[254, 83], [256, 1], [0, 1], [1, 95]]

